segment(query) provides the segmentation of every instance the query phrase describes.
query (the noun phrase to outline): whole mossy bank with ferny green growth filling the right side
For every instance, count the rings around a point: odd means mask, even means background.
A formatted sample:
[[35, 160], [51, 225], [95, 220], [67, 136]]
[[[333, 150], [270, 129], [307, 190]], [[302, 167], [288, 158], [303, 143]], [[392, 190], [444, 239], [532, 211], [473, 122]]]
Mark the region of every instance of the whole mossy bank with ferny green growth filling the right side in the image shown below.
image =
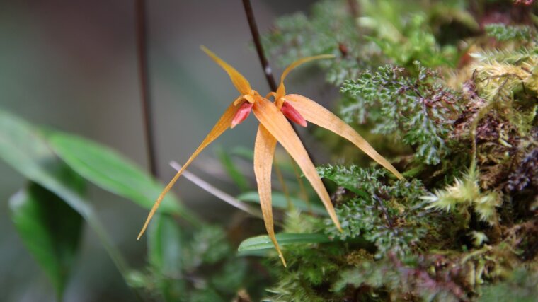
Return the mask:
[[[270, 50], [289, 61], [302, 51], [336, 54], [320, 66], [341, 86], [340, 115], [394, 142], [378, 144], [380, 151], [400, 154], [396, 166], [408, 177], [396, 181], [357, 165], [319, 167], [338, 188], [333, 202], [343, 231], [328, 219], [305, 224], [334, 242], [288, 250], [296, 258], [291, 272], [277, 273], [274, 301], [534, 301], [536, 29], [517, 24], [529, 17], [520, 10], [514, 25], [486, 25], [479, 34], [483, 19], [510, 4], [479, 2], [467, 11], [465, 1], [430, 2], [360, 1], [362, 16], [350, 23], [348, 2], [323, 1], [268, 35]], [[510, 8], [513, 16], [518, 9]], [[451, 22], [477, 36], [462, 47], [454, 33], [440, 31]], [[334, 26], [357, 30], [330, 35]], [[299, 38], [304, 30], [308, 41]], [[446, 45], [450, 40], [460, 44]], [[409, 149], [388, 150], [403, 149], [401, 143]]]

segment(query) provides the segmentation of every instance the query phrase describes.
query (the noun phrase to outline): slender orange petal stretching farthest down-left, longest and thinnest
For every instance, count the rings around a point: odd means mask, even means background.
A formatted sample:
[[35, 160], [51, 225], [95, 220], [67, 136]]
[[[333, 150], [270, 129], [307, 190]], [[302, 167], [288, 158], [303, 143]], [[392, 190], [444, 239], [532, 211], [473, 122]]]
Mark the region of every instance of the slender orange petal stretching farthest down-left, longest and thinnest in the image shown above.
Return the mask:
[[192, 163], [194, 161], [196, 156], [198, 156], [198, 154], [200, 154], [200, 152], [202, 152], [202, 150], [205, 149], [205, 147], [207, 147], [209, 144], [211, 144], [212, 141], [217, 139], [217, 137], [219, 137], [222, 133], [224, 133], [224, 131], [226, 131], [228, 129], [228, 127], [230, 127], [231, 121], [234, 119], [234, 116], [236, 115], [236, 112], [237, 112], [238, 109], [239, 108], [234, 106], [233, 104], [229, 105], [227, 110], [224, 111], [224, 114], [217, 121], [217, 124], [214, 125], [213, 129], [211, 129], [210, 133], [207, 134], [207, 137], [205, 137], [205, 139], [202, 141], [202, 144], [200, 144], [200, 146], [198, 146], [198, 149], [196, 149], [194, 151], [193, 155], [190, 156], [188, 161], [181, 167], [181, 169], [178, 171], [178, 173], [176, 173], [176, 175], [174, 175], [172, 180], [170, 182], [168, 182], [168, 185], [166, 185], [163, 192], [161, 192], [159, 197], [157, 197], [157, 200], [155, 201], [155, 204], [151, 208], [151, 211], [149, 211], [149, 215], [147, 216], [146, 222], [144, 222], [144, 226], [142, 227], [142, 231], [140, 231], [140, 233], [138, 234], [137, 239], [140, 239], [140, 237], [142, 237], [142, 235], [144, 234], [144, 231], [146, 231], [146, 228], [147, 228], [147, 226], [149, 224], [149, 221], [151, 220], [151, 217], [153, 217], [153, 215], [155, 214], [155, 211], [157, 210], [157, 208], [159, 208], [159, 204], [161, 204], [161, 202], [164, 199], [164, 196], [166, 195], [166, 193], [168, 193], [168, 191], [171, 190], [173, 185], [176, 183], [178, 178], [181, 176], [181, 173], [183, 173], [183, 171], [188, 167], [188, 165], [190, 165], [190, 163]]

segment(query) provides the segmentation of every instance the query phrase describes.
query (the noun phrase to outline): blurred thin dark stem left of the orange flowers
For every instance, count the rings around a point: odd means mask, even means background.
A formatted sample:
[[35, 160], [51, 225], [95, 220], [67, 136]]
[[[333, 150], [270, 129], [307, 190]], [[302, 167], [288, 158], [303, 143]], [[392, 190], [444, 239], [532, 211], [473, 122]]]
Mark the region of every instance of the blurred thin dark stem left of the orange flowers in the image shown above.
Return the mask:
[[142, 115], [144, 119], [144, 136], [146, 138], [149, 171], [152, 175], [157, 176], [158, 171], [156, 165], [154, 129], [151, 115], [151, 98], [149, 96], [146, 3], [144, 0], [137, 0], [136, 14], [138, 74], [140, 81], [140, 96], [142, 101]]

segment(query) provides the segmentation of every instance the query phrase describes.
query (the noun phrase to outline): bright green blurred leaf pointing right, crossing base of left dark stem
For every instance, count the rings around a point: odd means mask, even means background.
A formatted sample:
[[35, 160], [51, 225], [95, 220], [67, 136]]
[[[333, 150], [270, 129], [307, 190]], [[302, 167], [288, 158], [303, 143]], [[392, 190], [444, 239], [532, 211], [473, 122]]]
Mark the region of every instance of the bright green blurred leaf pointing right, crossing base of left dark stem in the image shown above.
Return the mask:
[[[151, 209], [163, 186], [135, 163], [116, 151], [94, 141], [60, 132], [49, 135], [57, 155], [76, 173], [114, 194]], [[183, 214], [186, 211], [173, 194], [166, 195], [159, 208], [161, 213]]]

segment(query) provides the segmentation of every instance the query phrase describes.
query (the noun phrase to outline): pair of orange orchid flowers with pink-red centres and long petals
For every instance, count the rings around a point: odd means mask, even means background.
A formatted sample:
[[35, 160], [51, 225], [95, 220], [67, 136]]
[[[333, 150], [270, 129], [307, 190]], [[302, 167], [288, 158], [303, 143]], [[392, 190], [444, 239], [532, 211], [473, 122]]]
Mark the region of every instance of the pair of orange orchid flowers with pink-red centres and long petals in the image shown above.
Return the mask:
[[[404, 178], [398, 170], [396, 170], [396, 168], [394, 168], [394, 166], [392, 166], [383, 156], [379, 155], [379, 153], [377, 153], [377, 151], [375, 151], [374, 148], [360, 136], [360, 134], [355, 132], [352, 127], [345, 124], [345, 122], [340, 120], [340, 118], [332, 112], [302, 95], [286, 94], [284, 79], [292, 69], [312, 60], [332, 58], [332, 55], [324, 54], [314, 57], [306, 57], [294, 62], [282, 73], [282, 76], [280, 77], [280, 86], [278, 86], [277, 91], [273, 91], [263, 98], [263, 96], [251, 88], [250, 83], [248, 83], [244, 76], [236, 71], [234, 67], [222, 61], [216, 54], [203, 46], [202, 50], [227, 72], [231, 82], [241, 95], [229, 105], [222, 117], [217, 121], [217, 124], [214, 125], [211, 132], [207, 134], [207, 137], [202, 141], [202, 144], [198, 146], [198, 149], [194, 151], [193, 155], [190, 156], [188, 161], [182, 166], [181, 170], [179, 170], [168, 185], [166, 185], [164, 191], [161, 192], [157, 198], [154, 207], [149, 212], [138, 238], [140, 238], [146, 230], [151, 217], [155, 214], [164, 195], [171, 190], [171, 187], [176, 180], [178, 180], [180, 175], [196, 156], [198, 156], [206, 146], [217, 139], [217, 137], [224, 133], [229, 127], [234, 128], [237, 124], [246, 120], [248, 115], [250, 115], [250, 112], [254, 112], [254, 115], [260, 122], [258, 133], [256, 134], [256, 142], [254, 144], [254, 174], [256, 176], [256, 182], [258, 183], [258, 193], [260, 196], [263, 220], [265, 222], [267, 233], [273, 242], [273, 245], [275, 245], [284, 266], [286, 265], [286, 262], [275, 238], [273, 209], [271, 207], [271, 168], [277, 142], [280, 142], [284, 149], [290, 153], [297, 165], [299, 165], [302, 173], [319, 195], [319, 198], [327, 209], [333, 223], [341, 231], [340, 223], [338, 222], [336, 212], [331, 203], [331, 198], [321, 182], [321, 179], [316, 172], [316, 167], [308, 156], [307, 150], [304, 149], [302, 142], [299, 140], [299, 137], [297, 137], [296, 132], [294, 132], [292, 125], [287, 121], [286, 117], [302, 127], [306, 127], [308, 121], [331, 130], [340, 135], [340, 137], [344, 137], [355, 144], [355, 146], [367, 153], [367, 155], [374, 159], [374, 161], [377, 161], [377, 163], [384, 168], [387, 168], [391, 173], [394, 173], [397, 178]], [[274, 102], [268, 100], [271, 96], [275, 98]]]

